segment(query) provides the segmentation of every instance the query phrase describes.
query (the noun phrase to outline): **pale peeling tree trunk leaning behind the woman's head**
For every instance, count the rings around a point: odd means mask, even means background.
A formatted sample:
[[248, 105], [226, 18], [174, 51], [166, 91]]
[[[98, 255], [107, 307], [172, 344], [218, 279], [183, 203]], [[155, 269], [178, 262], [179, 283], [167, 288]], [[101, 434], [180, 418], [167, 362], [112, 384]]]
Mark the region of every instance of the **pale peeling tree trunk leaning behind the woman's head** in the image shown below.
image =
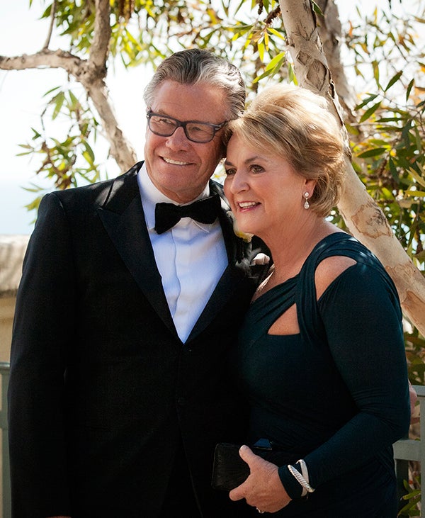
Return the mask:
[[346, 179], [339, 212], [352, 235], [372, 250], [385, 266], [397, 286], [404, 315], [425, 336], [425, 278], [396, 239], [385, 214], [368, 195], [348, 159], [350, 152], [343, 110], [322, 50], [312, 3], [310, 0], [280, 0], [279, 4], [300, 86], [327, 99], [329, 110], [341, 123], [341, 131], [346, 137]]

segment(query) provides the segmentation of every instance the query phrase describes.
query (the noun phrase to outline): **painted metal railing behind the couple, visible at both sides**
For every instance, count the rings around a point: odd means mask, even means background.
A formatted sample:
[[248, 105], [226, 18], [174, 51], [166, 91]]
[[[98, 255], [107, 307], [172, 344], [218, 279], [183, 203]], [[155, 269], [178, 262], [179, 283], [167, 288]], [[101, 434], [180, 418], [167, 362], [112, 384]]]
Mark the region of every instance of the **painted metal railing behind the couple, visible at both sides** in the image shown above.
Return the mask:
[[[0, 362], [1, 376], [1, 474], [2, 474], [2, 517], [11, 518], [11, 483], [9, 476], [8, 456], [8, 422], [7, 422], [7, 387], [9, 379], [9, 364]], [[425, 415], [425, 386], [414, 385], [420, 405], [420, 415]], [[422, 411], [424, 412], [422, 414]], [[425, 466], [425, 419], [420, 422], [422, 439], [400, 439], [394, 444], [395, 469], [397, 473], [397, 484], [399, 496], [406, 493], [404, 480], [409, 479], [409, 461], [418, 461]], [[421, 507], [425, 503], [425, 476], [421, 477]], [[425, 509], [425, 507], [422, 507]]]

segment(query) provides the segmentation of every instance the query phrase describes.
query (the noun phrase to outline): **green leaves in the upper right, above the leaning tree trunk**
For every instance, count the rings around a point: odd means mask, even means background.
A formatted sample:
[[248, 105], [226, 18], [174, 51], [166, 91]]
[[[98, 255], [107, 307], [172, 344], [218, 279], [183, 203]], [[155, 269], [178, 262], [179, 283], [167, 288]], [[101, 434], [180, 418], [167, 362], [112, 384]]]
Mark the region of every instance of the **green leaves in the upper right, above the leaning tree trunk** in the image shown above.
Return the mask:
[[355, 140], [355, 167], [422, 271], [425, 61], [424, 49], [416, 45], [416, 31], [424, 23], [424, 18], [401, 21], [393, 13], [375, 11], [371, 19], [363, 19], [363, 26], [351, 26], [347, 34], [356, 74], [373, 78], [356, 107], [359, 122], [349, 127]]

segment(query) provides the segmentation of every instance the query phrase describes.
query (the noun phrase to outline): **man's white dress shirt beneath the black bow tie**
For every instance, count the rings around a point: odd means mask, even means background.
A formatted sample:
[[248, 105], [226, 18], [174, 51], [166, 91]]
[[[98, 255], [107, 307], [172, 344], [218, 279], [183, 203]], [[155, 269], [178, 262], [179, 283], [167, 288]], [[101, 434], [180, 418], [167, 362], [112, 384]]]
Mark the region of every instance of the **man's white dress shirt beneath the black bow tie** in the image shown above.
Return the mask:
[[[215, 290], [228, 261], [220, 223], [181, 218], [171, 230], [155, 232], [155, 205], [177, 203], [159, 191], [142, 165], [137, 174], [155, 261], [177, 334], [184, 343]], [[210, 196], [209, 186], [196, 198]]]

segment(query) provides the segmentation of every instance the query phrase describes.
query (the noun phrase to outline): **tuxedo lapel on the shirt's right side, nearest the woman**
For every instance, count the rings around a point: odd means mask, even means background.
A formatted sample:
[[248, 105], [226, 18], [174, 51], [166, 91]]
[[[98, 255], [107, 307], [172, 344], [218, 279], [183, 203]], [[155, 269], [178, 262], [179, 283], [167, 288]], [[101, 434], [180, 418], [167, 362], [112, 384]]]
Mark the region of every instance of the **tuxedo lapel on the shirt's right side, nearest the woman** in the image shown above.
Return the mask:
[[225, 240], [227, 257], [229, 264], [223, 272], [220, 281], [214, 292], [208, 300], [203, 313], [198, 318], [196, 325], [193, 327], [191, 334], [188, 337], [188, 341], [195, 338], [200, 332], [205, 330], [205, 327], [210, 325], [212, 320], [217, 317], [218, 313], [222, 310], [223, 306], [227, 303], [234, 290], [237, 288], [239, 283], [249, 276], [249, 250], [251, 247], [249, 244], [244, 243], [241, 239], [237, 238], [233, 232], [233, 221], [229, 215], [229, 205], [222, 193], [222, 190], [217, 187], [217, 184], [210, 182], [210, 192], [220, 194], [222, 198], [222, 211], [219, 215], [220, 225], [222, 227], [222, 233]]

